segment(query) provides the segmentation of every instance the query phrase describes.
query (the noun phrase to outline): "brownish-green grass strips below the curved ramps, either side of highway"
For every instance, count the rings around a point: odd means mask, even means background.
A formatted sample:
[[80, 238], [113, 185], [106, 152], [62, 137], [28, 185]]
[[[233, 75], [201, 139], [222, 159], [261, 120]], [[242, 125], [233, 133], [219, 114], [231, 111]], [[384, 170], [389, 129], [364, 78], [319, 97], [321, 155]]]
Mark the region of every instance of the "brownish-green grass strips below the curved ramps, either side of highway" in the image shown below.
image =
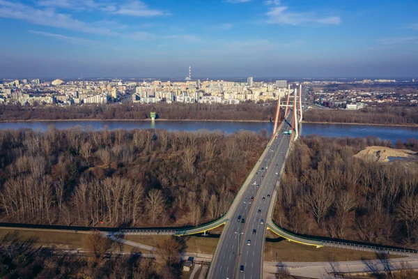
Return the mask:
[[[15, 229], [0, 228], [0, 237], [14, 232]], [[20, 229], [20, 236], [23, 239], [36, 237], [37, 242], [42, 246], [56, 246], [60, 249], [81, 249], [88, 250], [88, 234], [72, 232], [51, 232]], [[219, 233], [219, 231], [218, 231]], [[268, 239], [265, 242], [265, 261], [280, 262], [327, 262], [353, 261], [359, 259], [376, 259], [371, 252], [359, 252], [355, 250], [343, 250], [338, 248], [315, 248], [301, 244], [291, 243], [268, 232]], [[157, 246], [171, 236], [126, 236], [125, 239], [148, 246]], [[185, 240], [185, 252], [198, 252], [200, 254], [213, 255], [219, 240], [219, 234], [208, 234], [208, 236], [182, 236]], [[150, 253], [147, 250], [133, 248], [131, 246], [118, 246], [123, 252]]]

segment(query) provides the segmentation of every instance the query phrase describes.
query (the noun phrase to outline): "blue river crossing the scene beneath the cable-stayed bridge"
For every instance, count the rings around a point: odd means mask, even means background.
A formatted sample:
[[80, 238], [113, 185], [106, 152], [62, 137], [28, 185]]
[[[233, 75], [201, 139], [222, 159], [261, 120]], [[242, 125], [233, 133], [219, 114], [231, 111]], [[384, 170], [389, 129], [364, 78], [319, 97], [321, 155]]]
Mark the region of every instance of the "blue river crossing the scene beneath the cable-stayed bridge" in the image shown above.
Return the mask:
[[[68, 129], [80, 126], [82, 129], [101, 130], [116, 129], [165, 129], [165, 130], [219, 130], [234, 133], [240, 130], [251, 130], [256, 133], [265, 129], [272, 133], [273, 123], [268, 122], [233, 122], [233, 121], [33, 121], [33, 122], [2, 122], [0, 130], [31, 128], [33, 130], [47, 130], [48, 126], [58, 129]], [[369, 126], [343, 124], [303, 123], [302, 135], [322, 135], [326, 137], [379, 137], [382, 140], [418, 139], [418, 127], [401, 126]]]

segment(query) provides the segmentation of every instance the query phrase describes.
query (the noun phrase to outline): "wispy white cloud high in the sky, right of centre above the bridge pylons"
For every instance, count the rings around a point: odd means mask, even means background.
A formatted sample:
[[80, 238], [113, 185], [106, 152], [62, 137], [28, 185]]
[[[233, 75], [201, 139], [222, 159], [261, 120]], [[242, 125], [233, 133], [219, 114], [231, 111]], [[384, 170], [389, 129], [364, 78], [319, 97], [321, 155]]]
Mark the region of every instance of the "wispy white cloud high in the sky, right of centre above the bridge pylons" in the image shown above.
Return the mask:
[[287, 6], [270, 8], [267, 22], [270, 24], [302, 25], [309, 23], [317, 24], [340, 24], [341, 18], [337, 16], [319, 17], [314, 13], [292, 13]]

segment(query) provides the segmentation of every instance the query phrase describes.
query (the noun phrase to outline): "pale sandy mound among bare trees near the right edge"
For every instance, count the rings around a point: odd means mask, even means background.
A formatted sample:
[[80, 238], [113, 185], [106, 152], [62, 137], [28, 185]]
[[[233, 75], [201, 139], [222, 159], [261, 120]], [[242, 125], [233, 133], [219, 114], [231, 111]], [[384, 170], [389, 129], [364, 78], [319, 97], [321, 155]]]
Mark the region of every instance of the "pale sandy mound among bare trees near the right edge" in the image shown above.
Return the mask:
[[362, 160], [387, 163], [391, 158], [418, 159], [417, 153], [406, 149], [391, 149], [384, 146], [368, 146], [355, 155]]

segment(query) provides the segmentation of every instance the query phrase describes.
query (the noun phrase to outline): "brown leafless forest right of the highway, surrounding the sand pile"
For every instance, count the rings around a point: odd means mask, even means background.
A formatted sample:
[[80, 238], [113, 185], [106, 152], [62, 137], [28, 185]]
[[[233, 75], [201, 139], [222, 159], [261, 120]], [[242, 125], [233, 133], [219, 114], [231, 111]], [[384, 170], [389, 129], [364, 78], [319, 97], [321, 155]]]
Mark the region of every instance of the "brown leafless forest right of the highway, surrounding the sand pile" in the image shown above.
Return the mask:
[[[392, 143], [316, 136], [295, 142], [274, 221], [301, 234], [417, 248], [417, 162], [353, 158], [371, 145]], [[417, 140], [405, 146], [418, 151]]]

